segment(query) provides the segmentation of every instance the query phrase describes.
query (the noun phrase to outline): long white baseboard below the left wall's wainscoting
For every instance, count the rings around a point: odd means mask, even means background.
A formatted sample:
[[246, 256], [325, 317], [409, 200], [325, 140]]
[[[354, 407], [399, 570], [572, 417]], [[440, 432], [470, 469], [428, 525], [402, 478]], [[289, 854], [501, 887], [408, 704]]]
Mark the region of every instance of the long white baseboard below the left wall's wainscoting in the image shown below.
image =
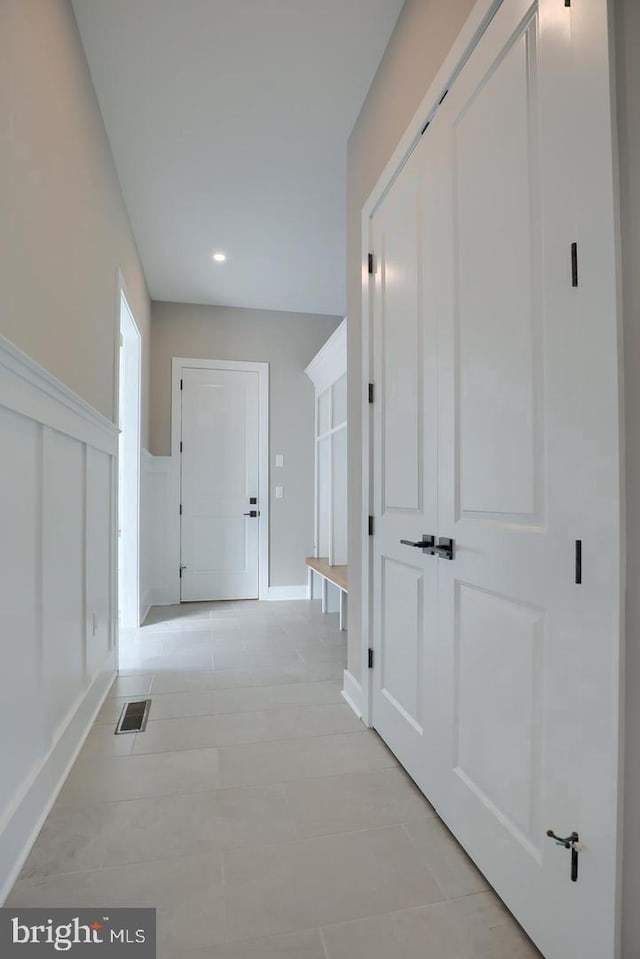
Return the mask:
[[77, 759], [89, 730], [107, 698], [116, 677], [113, 662], [99, 673], [84, 699], [72, 713], [61, 736], [37, 764], [0, 831], [0, 861], [12, 863], [0, 888], [0, 905], [5, 901], [38, 837], [69, 771]]

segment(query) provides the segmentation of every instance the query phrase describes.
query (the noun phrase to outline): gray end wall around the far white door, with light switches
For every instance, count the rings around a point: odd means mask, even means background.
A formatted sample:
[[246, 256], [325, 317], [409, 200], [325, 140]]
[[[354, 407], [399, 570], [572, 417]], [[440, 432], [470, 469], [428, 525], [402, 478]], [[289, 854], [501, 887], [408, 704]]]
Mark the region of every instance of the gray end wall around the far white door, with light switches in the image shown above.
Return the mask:
[[[304, 369], [342, 317], [153, 303], [151, 452], [171, 451], [171, 358], [269, 363], [270, 585], [306, 582], [313, 551], [314, 389]], [[275, 453], [284, 468], [274, 469]], [[284, 499], [274, 486], [284, 486]]]

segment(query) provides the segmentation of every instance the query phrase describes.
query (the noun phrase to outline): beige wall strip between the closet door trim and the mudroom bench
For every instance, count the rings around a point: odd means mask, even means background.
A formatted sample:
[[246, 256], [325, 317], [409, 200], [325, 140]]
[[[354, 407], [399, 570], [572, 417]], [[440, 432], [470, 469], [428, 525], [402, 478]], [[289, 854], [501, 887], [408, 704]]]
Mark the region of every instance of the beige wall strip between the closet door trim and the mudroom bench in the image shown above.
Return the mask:
[[361, 678], [362, 495], [361, 211], [474, 0], [406, 0], [349, 138], [347, 155], [347, 316], [349, 369], [349, 669]]

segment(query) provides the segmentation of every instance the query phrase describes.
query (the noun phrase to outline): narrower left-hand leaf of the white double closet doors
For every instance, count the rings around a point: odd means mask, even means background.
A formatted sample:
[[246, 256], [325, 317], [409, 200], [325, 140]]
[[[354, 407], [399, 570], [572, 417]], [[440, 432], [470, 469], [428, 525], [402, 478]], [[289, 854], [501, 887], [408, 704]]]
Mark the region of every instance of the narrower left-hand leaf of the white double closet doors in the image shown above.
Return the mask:
[[372, 223], [374, 295], [373, 716], [430, 793], [437, 564], [401, 540], [437, 525], [435, 316], [428, 255], [434, 184], [425, 138]]

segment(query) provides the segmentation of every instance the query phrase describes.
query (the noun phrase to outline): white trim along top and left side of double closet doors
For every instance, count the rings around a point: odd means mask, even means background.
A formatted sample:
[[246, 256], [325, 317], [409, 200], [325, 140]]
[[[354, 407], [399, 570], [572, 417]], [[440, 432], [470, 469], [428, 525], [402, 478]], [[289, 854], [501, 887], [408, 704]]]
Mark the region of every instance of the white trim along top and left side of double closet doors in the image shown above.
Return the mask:
[[361, 418], [362, 418], [362, 514], [361, 522], [361, 634], [360, 634], [360, 662], [361, 662], [361, 680], [362, 695], [360, 708], [362, 710], [362, 720], [367, 726], [371, 725], [371, 702], [373, 697], [373, 674], [372, 670], [367, 669], [367, 659], [369, 648], [373, 645], [372, 637], [372, 615], [371, 598], [373, 595], [371, 562], [371, 537], [368, 535], [369, 516], [372, 509], [372, 429], [371, 429], [371, 405], [369, 403], [369, 383], [372, 382], [373, 363], [372, 363], [372, 310], [373, 298], [371, 296], [371, 280], [368, 275], [366, 260], [371, 250], [371, 217], [382, 200], [383, 196], [390, 188], [396, 176], [407, 162], [418, 143], [425, 124], [429, 121], [445, 93], [456, 76], [468, 60], [473, 49], [477, 45], [480, 37], [487, 28], [496, 10], [502, 3], [502, 0], [478, 0], [471, 13], [467, 17], [465, 24], [458, 34], [451, 50], [445, 58], [442, 66], [438, 70], [433, 82], [429, 86], [426, 94], [422, 98], [420, 106], [408, 127], [406, 128], [397, 147], [391, 155], [391, 159], [385, 166], [376, 185], [374, 186], [369, 198], [362, 208], [361, 219], [361, 252], [363, 257], [362, 271], [362, 389], [360, 395]]

